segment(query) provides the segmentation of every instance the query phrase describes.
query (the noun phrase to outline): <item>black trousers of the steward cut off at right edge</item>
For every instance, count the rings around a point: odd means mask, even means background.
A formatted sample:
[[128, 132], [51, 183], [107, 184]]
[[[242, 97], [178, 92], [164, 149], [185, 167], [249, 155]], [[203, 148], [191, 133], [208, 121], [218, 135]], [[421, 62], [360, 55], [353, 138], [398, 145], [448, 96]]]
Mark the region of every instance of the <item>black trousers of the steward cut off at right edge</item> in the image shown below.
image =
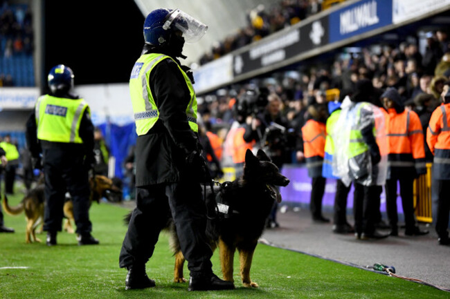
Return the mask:
[[436, 217], [436, 233], [439, 238], [449, 238], [450, 213], [450, 180], [433, 180], [438, 190], [438, 215]]

